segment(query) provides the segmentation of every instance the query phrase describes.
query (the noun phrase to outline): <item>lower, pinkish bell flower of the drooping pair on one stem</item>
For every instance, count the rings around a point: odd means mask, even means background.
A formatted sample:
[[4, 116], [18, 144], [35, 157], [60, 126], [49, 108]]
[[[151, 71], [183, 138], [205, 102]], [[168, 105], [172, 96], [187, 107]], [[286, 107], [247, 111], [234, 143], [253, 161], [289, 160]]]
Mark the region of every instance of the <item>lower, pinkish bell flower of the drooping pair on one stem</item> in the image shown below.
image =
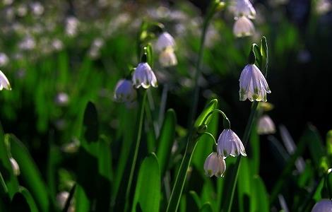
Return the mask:
[[204, 163], [204, 170], [208, 177], [223, 177], [226, 170], [225, 160], [217, 153], [211, 153], [208, 155]]

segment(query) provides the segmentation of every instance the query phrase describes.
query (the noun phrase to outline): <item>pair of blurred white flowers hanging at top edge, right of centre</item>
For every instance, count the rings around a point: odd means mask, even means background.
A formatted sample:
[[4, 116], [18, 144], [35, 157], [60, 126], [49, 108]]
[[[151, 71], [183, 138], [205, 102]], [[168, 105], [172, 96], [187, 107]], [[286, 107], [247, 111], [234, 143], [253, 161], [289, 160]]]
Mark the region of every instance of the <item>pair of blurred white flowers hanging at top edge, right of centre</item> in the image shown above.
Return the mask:
[[233, 8], [235, 24], [233, 33], [237, 37], [244, 37], [254, 34], [254, 24], [250, 19], [256, 18], [256, 11], [249, 0], [236, 0]]

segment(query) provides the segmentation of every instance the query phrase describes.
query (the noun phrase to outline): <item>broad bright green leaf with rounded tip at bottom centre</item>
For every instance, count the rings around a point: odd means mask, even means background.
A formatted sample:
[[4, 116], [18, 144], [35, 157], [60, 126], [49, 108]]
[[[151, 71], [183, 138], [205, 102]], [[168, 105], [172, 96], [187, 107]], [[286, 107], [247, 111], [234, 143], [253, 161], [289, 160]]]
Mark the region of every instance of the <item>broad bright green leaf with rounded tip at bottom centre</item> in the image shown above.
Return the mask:
[[160, 170], [158, 158], [151, 153], [143, 160], [138, 172], [134, 203], [131, 211], [136, 211], [139, 204], [143, 212], [159, 211], [160, 202]]

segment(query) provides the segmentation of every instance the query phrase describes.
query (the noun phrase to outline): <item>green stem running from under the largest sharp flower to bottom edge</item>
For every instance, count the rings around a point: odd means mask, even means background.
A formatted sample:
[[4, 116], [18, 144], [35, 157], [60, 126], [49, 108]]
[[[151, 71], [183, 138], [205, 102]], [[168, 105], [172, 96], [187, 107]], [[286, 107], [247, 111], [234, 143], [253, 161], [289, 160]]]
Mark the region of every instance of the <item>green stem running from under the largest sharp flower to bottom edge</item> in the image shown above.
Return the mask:
[[[250, 131], [251, 131], [251, 126], [254, 124], [254, 117], [255, 117], [258, 105], [259, 105], [259, 102], [256, 102], [256, 101], [252, 104], [250, 116], [249, 116], [249, 119], [248, 119], [248, 123], [247, 123], [246, 129], [244, 131], [244, 135], [243, 135], [243, 138], [242, 138], [242, 142], [243, 142], [244, 147], [247, 146]], [[232, 209], [232, 201], [233, 201], [234, 194], [235, 194], [235, 187], [236, 187], [236, 184], [237, 184], [237, 176], [239, 175], [239, 163], [241, 161], [241, 158], [242, 158], [242, 156], [239, 155], [239, 157], [237, 158], [237, 162], [235, 163], [235, 170], [234, 170], [234, 172], [230, 173], [232, 175], [231, 179], [234, 179], [234, 180], [232, 180], [230, 182], [231, 183], [230, 186], [227, 187], [227, 189], [229, 189], [229, 191], [227, 191], [226, 194], [230, 194], [230, 195], [227, 196], [226, 200], [224, 201], [223, 211], [230, 212], [231, 209]]]

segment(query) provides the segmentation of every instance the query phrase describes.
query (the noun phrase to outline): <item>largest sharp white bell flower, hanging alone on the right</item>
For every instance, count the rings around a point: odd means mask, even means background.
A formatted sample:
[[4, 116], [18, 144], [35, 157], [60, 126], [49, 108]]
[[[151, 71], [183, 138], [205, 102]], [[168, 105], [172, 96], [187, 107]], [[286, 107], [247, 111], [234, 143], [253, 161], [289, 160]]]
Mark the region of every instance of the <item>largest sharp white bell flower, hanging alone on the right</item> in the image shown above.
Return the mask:
[[271, 93], [263, 73], [255, 64], [244, 67], [239, 77], [239, 100], [266, 102], [266, 93]]

